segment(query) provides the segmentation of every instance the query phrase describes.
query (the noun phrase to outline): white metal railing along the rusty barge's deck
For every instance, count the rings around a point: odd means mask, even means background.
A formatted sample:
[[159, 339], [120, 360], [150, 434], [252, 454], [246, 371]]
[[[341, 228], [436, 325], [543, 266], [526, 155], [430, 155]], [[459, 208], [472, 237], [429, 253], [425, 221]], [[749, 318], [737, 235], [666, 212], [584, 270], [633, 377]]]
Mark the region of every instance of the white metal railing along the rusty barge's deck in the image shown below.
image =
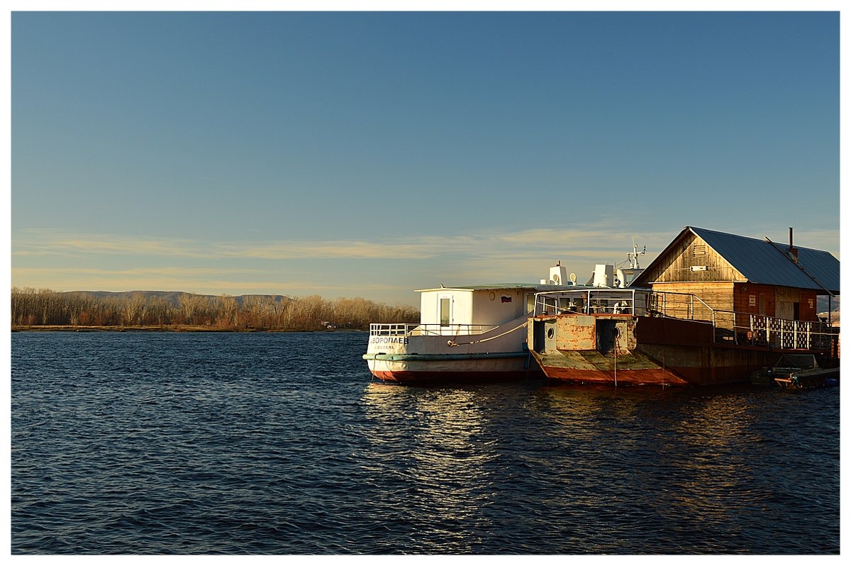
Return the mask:
[[715, 309], [690, 293], [608, 288], [538, 293], [534, 316], [546, 314], [671, 317], [711, 324], [716, 342], [784, 350], [838, 349], [837, 330], [827, 323]]

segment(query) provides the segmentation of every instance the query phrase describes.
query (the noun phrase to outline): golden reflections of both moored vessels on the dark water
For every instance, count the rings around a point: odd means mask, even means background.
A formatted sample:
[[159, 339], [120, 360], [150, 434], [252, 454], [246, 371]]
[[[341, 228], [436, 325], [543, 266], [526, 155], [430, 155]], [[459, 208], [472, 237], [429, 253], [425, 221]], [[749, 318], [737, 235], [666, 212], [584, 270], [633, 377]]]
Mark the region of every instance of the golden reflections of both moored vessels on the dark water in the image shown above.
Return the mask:
[[363, 466], [434, 552], [482, 552], [494, 531], [513, 552], [747, 548], [777, 490], [747, 457], [766, 433], [749, 392], [373, 383]]

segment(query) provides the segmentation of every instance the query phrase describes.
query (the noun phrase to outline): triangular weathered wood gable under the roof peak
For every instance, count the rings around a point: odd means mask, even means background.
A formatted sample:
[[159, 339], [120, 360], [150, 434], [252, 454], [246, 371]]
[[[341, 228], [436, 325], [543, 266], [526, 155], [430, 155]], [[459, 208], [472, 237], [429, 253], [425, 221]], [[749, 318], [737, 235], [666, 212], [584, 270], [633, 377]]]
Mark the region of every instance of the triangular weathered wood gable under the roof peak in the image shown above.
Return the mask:
[[647, 276], [655, 283], [745, 281], [745, 277], [694, 234], [668, 250]]

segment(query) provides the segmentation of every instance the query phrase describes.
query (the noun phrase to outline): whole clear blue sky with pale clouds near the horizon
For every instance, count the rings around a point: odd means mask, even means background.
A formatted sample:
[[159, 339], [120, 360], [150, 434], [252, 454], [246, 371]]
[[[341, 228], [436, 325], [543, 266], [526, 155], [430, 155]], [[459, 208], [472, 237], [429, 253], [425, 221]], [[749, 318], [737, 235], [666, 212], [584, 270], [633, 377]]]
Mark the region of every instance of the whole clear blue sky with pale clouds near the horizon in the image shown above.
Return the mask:
[[[26, 8], [26, 7], [22, 7]], [[839, 257], [837, 12], [16, 12], [11, 284], [366, 297]]]

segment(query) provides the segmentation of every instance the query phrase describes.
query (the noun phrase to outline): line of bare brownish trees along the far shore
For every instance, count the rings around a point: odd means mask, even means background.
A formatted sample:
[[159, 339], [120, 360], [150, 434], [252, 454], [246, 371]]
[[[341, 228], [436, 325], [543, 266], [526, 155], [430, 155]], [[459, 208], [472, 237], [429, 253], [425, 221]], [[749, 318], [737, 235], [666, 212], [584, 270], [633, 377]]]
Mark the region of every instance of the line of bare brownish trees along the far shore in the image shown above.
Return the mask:
[[195, 327], [216, 330], [368, 329], [369, 323], [416, 323], [413, 306], [319, 295], [204, 295], [174, 297], [136, 291], [102, 296], [87, 291], [12, 289], [14, 327]]

